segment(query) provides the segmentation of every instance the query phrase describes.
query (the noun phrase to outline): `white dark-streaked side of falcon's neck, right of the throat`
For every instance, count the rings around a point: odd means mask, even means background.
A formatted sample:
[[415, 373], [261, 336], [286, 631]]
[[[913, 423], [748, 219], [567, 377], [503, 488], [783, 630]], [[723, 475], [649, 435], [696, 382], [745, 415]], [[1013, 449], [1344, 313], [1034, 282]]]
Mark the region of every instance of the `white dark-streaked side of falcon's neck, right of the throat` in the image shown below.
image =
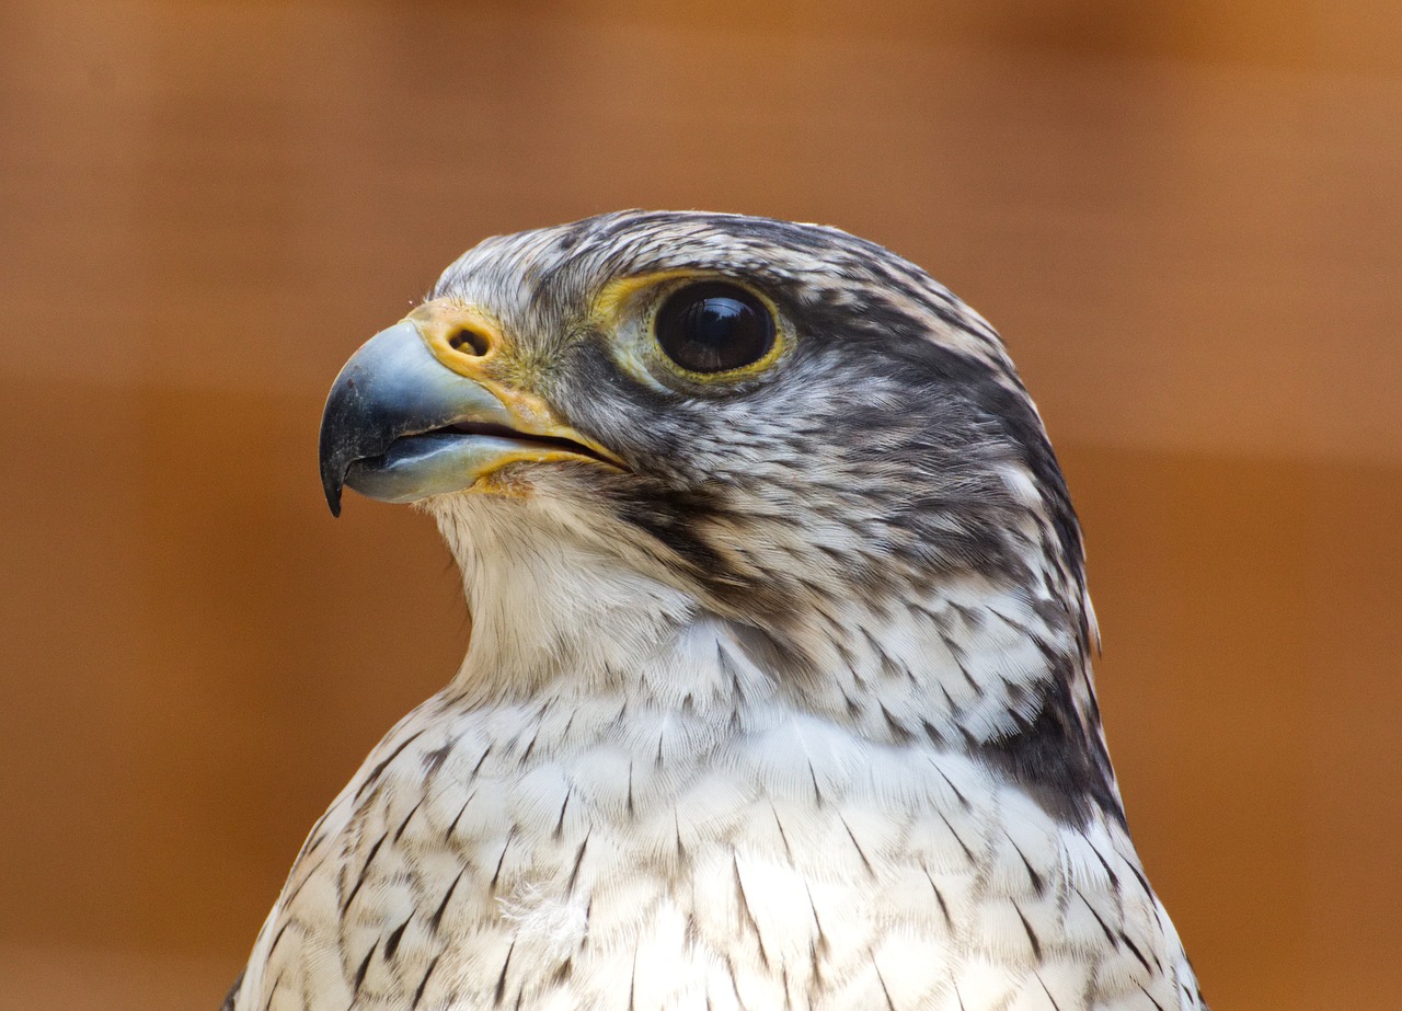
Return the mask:
[[967, 754], [1064, 820], [1123, 822], [1081, 602], [951, 576], [899, 606], [851, 599], [740, 641], [810, 712], [875, 742]]

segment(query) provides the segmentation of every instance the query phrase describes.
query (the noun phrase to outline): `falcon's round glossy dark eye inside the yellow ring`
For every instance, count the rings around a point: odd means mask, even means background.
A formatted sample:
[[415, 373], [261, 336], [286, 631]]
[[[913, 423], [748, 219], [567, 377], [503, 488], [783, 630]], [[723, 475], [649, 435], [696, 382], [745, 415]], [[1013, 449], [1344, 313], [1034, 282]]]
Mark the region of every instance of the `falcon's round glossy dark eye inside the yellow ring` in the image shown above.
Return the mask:
[[658, 310], [658, 344], [683, 369], [730, 372], [754, 365], [774, 346], [774, 317], [743, 287], [690, 285]]

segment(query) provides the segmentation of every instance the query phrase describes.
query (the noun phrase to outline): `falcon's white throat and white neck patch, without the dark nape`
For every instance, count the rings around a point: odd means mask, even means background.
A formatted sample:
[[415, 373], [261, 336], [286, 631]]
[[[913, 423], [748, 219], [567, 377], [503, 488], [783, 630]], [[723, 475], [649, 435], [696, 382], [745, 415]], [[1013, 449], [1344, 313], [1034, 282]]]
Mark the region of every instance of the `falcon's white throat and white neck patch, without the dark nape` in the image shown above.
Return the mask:
[[690, 705], [730, 696], [715, 683], [729, 676], [721, 667], [744, 667], [751, 693], [871, 740], [983, 743], [1035, 715], [1047, 648], [1077, 652], [1068, 623], [1049, 625], [1046, 607], [977, 576], [880, 613], [861, 600], [824, 607], [792, 625], [789, 642], [756, 649], [754, 637], [665, 582], [655, 559], [610, 540], [601, 510], [498, 495], [444, 496], [429, 509], [472, 616], [451, 691], [471, 704], [621, 690]]

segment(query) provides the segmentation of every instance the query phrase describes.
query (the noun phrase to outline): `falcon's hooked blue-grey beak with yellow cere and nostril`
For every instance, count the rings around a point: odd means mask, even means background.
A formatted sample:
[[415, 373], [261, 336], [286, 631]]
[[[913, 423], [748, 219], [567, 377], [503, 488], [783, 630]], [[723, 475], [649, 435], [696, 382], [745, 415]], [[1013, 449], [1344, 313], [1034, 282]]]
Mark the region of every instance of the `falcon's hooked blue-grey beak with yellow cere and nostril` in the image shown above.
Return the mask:
[[331, 515], [341, 515], [342, 485], [381, 502], [415, 502], [471, 488], [510, 463], [621, 468], [544, 400], [496, 381], [505, 355], [498, 330], [446, 300], [366, 341], [341, 369], [321, 415], [321, 487]]

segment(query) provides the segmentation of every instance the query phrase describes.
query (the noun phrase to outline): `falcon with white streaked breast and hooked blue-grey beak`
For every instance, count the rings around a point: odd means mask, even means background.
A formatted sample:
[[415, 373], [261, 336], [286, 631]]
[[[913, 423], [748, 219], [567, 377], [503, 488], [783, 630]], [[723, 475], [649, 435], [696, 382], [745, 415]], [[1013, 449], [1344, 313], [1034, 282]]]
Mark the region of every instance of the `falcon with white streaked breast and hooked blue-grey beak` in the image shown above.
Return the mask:
[[913, 264], [690, 212], [488, 238], [346, 363], [321, 478], [433, 516], [471, 642], [226, 1007], [1204, 1007], [1056, 456]]

